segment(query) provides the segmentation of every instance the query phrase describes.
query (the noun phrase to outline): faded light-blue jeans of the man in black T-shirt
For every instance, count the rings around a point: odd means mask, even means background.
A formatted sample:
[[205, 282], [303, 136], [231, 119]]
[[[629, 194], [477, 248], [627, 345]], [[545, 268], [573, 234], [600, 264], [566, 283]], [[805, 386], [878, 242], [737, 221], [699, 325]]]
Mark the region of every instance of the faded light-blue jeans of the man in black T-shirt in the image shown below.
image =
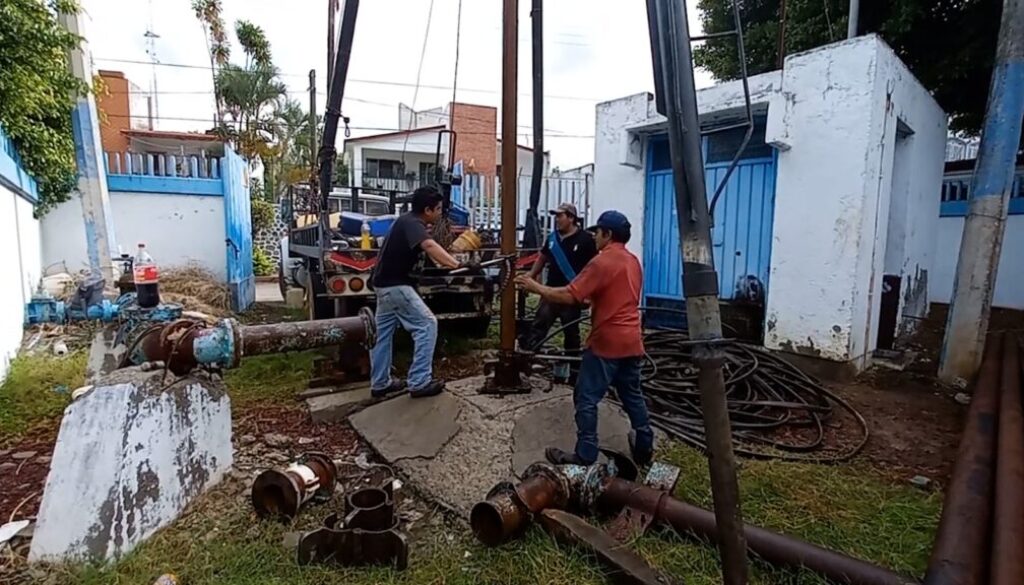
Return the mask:
[[394, 330], [401, 328], [413, 336], [413, 365], [409, 368], [409, 388], [430, 383], [433, 376], [434, 346], [437, 344], [437, 318], [413, 287], [377, 289], [377, 345], [370, 351], [370, 384], [382, 390], [391, 383], [391, 349]]

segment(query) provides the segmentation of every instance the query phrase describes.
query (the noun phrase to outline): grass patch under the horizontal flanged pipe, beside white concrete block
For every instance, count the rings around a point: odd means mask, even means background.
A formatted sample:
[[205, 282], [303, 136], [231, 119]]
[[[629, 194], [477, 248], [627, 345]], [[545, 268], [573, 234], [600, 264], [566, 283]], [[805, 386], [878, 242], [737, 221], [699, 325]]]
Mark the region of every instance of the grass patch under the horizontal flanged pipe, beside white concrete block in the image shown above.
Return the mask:
[[224, 383], [234, 407], [259, 404], [293, 404], [306, 388], [316, 350], [254, 356], [224, 372]]

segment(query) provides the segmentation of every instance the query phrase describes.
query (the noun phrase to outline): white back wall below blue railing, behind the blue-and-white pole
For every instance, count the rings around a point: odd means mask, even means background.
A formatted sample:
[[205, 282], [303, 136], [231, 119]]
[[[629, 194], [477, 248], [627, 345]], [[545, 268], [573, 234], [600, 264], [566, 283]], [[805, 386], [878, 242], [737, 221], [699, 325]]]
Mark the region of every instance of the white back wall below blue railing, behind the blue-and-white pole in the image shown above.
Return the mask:
[[[227, 278], [222, 197], [112, 192], [111, 208], [124, 253], [134, 255], [138, 243], [144, 242], [161, 266], [195, 262]], [[73, 273], [88, 269], [78, 198], [44, 216], [42, 240], [44, 265], [63, 262]]]

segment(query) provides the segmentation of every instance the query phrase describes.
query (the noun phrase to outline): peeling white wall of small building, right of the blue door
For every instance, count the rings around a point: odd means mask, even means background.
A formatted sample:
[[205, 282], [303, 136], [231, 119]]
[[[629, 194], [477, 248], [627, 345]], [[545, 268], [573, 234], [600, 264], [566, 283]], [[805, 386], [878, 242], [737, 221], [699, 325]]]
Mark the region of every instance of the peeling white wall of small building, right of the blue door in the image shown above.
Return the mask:
[[[894, 175], [898, 120], [914, 133], [899, 157], [909, 169]], [[786, 58], [768, 117], [781, 152], [765, 345], [867, 365], [894, 178], [906, 202], [895, 208], [904, 238], [892, 263], [924, 317], [945, 135], [942, 110], [876, 36]]]

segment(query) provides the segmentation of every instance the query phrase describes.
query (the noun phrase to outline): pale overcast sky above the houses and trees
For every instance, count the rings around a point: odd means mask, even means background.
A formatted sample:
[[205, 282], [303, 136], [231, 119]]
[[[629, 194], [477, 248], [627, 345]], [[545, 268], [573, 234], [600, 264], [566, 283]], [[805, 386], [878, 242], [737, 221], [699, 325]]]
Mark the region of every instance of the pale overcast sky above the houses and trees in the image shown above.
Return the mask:
[[[245, 18], [262, 27], [291, 97], [308, 102], [308, 72], [316, 70], [317, 110], [323, 113], [327, 2], [223, 0], [232, 60], [243, 58], [233, 23]], [[425, 110], [451, 101], [459, 2], [362, 0], [343, 103], [353, 136], [396, 129], [399, 102]], [[458, 100], [500, 106], [502, 2], [465, 0], [462, 4]], [[689, 4], [691, 32], [697, 34], [696, 2]], [[164, 64], [155, 68], [158, 129], [201, 131], [210, 126], [213, 83], [209, 69], [203, 69], [209, 56], [189, 0], [84, 0], [82, 5], [94, 67], [123, 71], [143, 90], [151, 87], [154, 68], [123, 61], [148, 62], [144, 34], [152, 23], [153, 32], [159, 35], [157, 58]], [[520, 143], [529, 144], [529, 0], [519, 0], [519, 8], [518, 133]], [[549, 0], [544, 24], [545, 148], [551, 151], [555, 166], [593, 162], [595, 103], [653, 88], [645, 1]], [[710, 84], [710, 76], [698, 72], [697, 86]]]

